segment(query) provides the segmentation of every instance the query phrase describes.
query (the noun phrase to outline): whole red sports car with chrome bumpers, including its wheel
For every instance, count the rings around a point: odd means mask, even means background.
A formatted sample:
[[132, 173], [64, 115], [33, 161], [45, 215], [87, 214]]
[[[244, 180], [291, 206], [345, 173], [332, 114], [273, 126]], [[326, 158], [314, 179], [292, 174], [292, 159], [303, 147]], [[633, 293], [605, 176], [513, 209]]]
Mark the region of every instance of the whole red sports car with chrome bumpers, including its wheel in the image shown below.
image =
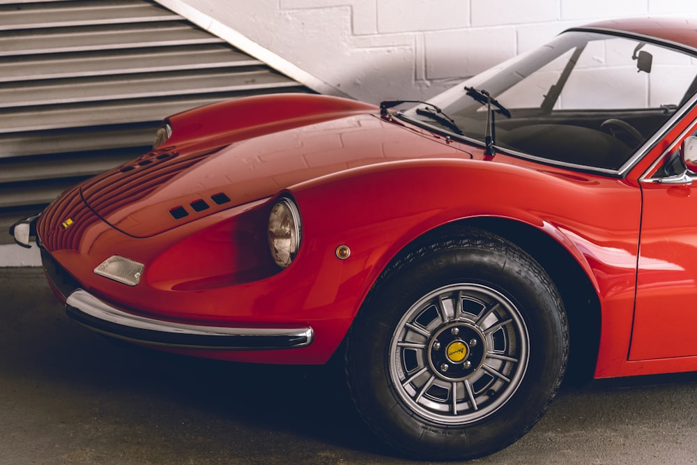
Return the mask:
[[696, 29], [569, 29], [427, 102], [176, 114], [153, 151], [11, 233], [36, 236], [88, 328], [225, 360], [345, 358], [399, 453], [486, 455], [542, 416], [567, 361], [697, 370]]

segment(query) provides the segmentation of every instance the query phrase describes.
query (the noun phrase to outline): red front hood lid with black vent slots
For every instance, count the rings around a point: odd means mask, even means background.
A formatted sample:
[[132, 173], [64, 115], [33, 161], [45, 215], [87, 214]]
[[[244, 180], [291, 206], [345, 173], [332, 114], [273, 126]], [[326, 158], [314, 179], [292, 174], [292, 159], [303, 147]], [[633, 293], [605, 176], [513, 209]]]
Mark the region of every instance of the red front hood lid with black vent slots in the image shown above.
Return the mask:
[[116, 229], [148, 237], [319, 176], [410, 158], [471, 156], [370, 114], [235, 139], [153, 151], [87, 181], [82, 198]]

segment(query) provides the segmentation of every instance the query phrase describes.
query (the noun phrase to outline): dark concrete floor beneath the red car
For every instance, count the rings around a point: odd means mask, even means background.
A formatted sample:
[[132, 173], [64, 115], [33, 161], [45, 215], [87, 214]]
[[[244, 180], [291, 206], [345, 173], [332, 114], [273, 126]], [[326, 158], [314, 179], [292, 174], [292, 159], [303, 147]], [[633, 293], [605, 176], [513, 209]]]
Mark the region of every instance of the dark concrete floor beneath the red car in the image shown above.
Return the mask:
[[[72, 323], [38, 268], [0, 269], [0, 464], [406, 464], [327, 367], [135, 350]], [[473, 464], [697, 463], [697, 374], [562, 388]]]

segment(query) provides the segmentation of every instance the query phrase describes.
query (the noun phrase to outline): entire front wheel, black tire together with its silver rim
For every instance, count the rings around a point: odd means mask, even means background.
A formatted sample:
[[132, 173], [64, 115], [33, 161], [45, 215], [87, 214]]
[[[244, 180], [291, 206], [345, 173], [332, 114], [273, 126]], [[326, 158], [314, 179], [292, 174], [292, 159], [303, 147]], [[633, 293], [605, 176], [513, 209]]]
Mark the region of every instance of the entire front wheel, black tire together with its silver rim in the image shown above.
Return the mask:
[[392, 264], [346, 344], [351, 397], [399, 454], [473, 459], [549, 406], [567, 363], [558, 291], [539, 264], [478, 229], [452, 229]]

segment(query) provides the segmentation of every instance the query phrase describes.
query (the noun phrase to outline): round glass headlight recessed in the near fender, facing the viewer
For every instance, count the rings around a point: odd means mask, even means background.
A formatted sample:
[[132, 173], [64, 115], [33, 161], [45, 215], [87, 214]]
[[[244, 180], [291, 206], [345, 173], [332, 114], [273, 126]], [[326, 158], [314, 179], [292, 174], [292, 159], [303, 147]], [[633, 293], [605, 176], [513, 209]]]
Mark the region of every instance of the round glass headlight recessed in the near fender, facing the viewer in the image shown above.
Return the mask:
[[300, 212], [289, 198], [279, 199], [271, 208], [268, 218], [268, 247], [271, 257], [281, 268], [286, 268], [300, 247]]

